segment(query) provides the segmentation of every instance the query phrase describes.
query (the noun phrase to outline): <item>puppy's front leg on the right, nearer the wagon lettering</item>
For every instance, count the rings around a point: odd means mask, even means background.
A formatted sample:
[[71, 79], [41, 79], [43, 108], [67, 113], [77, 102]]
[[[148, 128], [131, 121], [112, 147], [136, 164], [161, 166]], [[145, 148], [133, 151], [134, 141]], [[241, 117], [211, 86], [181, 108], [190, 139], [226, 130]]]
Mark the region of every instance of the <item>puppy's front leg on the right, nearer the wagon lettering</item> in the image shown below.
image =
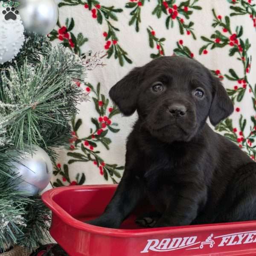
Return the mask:
[[206, 189], [185, 185], [177, 191], [174, 202], [169, 204], [162, 217], [154, 227], [171, 227], [189, 225], [198, 214], [198, 207], [206, 198]]

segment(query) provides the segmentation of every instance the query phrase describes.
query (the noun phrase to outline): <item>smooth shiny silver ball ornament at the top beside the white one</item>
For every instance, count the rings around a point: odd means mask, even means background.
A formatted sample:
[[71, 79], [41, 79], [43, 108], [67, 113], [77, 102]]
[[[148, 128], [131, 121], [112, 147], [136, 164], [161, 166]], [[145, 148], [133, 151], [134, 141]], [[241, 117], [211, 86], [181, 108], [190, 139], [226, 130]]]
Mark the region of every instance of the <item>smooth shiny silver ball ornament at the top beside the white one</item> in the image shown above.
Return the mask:
[[17, 9], [26, 32], [47, 35], [58, 21], [58, 6], [54, 0], [22, 0]]

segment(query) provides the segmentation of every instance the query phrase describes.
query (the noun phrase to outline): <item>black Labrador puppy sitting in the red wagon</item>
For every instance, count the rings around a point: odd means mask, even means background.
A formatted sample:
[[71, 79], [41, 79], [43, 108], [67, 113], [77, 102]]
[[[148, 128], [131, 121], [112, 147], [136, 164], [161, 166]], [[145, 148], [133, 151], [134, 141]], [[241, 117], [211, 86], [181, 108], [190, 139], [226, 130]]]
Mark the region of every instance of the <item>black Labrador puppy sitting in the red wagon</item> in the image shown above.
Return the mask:
[[221, 82], [202, 64], [157, 58], [110, 90], [125, 116], [139, 118], [128, 137], [125, 172], [105, 212], [88, 223], [118, 228], [148, 198], [154, 227], [256, 219], [256, 163], [207, 125], [233, 112]]

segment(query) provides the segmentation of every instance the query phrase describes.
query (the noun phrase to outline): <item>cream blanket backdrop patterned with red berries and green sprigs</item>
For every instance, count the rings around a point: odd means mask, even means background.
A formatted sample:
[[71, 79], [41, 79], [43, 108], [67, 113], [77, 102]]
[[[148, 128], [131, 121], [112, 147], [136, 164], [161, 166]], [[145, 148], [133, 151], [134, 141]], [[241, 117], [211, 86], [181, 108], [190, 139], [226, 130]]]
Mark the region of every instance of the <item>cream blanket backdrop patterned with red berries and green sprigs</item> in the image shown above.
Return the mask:
[[88, 73], [69, 148], [58, 151], [53, 186], [116, 183], [136, 114], [123, 117], [108, 90], [133, 67], [163, 55], [195, 58], [218, 76], [235, 111], [216, 131], [256, 154], [256, 0], [58, 0], [48, 36], [81, 55], [104, 50]]

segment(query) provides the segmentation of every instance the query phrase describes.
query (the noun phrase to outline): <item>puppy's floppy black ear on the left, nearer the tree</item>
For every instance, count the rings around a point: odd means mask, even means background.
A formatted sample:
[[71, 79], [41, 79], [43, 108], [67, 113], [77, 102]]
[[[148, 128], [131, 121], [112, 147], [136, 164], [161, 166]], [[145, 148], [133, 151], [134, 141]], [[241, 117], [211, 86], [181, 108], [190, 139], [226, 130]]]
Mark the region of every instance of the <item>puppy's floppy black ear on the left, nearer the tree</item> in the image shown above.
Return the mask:
[[131, 116], [137, 109], [141, 80], [142, 67], [135, 67], [109, 91], [109, 96], [125, 116]]

